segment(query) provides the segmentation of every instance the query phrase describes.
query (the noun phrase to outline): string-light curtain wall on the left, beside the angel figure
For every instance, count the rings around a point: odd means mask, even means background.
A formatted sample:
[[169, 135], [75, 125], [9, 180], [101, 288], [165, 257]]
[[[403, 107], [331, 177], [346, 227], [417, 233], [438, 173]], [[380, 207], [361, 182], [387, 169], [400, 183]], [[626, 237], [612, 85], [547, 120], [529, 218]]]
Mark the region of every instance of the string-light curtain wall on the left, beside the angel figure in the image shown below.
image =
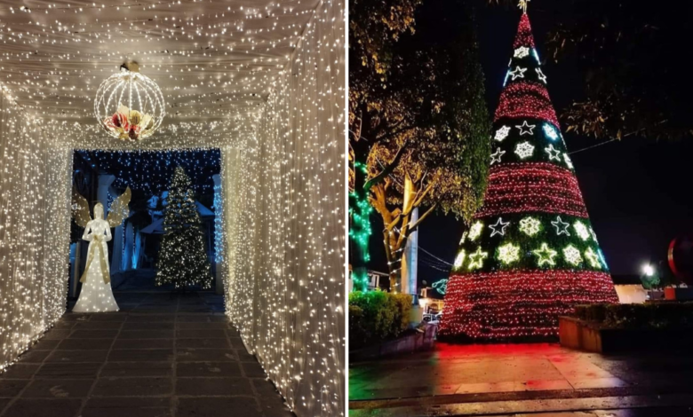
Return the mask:
[[[12, 365], [65, 311], [69, 152], [47, 145], [40, 120], [0, 94], [0, 370]], [[70, 162], [68, 162], [70, 161]]]

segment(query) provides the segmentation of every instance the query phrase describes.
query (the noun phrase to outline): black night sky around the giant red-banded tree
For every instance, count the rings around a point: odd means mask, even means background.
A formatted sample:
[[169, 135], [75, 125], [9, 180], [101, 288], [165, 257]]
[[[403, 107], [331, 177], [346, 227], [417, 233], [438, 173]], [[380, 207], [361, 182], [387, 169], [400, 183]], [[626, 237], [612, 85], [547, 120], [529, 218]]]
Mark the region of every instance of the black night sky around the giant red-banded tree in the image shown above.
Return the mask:
[[[656, 4], [650, 6], [657, 7]], [[530, 2], [530, 20], [543, 61], [546, 35], [555, 27], [559, 16], [570, 13], [570, 7], [574, 7], [573, 2]], [[445, 33], [446, 28], [454, 25], [448, 23], [460, 13], [463, 10], [458, 1], [425, 0], [417, 14], [417, 35], [432, 38], [450, 35]], [[520, 12], [516, 8], [480, 3], [477, 16], [487, 104], [492, 115], [498, 104]], [[578, 98], [582, 75], [576, 71], [570, 74], [564, 67], [559, 71], [551, 60], [544, 63], [544, 73], [560, 117], [562, 109]], [[690, 104], [681, 103], [681, 106]], [[564, 137], [569, 152], [604, 141], [570, 133], [564, 133]], [[648, 138], [625, 138], [570, 155], [594, 231], [613, 274], [640, 273], [643, 263], [665, 259], [668, 243], [674, 237], [693, 234], [693, 194], [689, 185], [691, 155], [693, 143], [690, 140]], [[379, 216], [374, 216], [370, 268], [387, 271], [381, 227]], [[461, 220], [454, 216], [429, 217], [419, 229], [419, 247], [452, 263], [463, 230]], [[430, 266], [430, 256], [419, 252], [419, 259], [419, 280], [426, 279], [430, 284], [447, 278], [445, 271]]]

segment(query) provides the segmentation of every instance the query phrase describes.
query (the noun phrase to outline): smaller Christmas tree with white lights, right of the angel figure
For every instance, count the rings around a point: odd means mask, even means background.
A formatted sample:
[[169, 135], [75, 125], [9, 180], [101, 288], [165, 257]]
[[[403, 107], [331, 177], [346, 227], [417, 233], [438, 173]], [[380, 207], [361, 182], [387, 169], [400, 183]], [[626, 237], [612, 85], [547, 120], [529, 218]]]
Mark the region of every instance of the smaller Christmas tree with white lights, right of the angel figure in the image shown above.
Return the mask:
[[190, 177], [176, 168], [163, 210], [163, 239], [156, 262], [156, 285], [211, 287], [210, 259]]

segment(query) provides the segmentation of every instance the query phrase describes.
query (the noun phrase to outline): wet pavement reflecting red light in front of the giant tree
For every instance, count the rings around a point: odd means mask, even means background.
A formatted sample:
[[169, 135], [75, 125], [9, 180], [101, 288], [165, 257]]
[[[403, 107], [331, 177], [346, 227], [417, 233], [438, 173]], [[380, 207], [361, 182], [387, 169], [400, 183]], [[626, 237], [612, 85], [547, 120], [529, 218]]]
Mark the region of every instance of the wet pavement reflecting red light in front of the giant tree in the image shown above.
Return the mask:
[[693, 416], [693, 354], [451, 345], [349, 365], [349, 415]]

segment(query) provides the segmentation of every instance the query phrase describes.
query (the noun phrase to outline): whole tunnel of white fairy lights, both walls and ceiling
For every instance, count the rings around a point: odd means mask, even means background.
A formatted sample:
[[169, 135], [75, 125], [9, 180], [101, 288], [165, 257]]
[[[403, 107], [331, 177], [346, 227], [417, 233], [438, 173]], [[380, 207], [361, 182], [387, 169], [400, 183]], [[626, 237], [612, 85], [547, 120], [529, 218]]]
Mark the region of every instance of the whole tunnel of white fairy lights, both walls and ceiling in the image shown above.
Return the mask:
[[[73, 150], [218, 148], [227, 315], [291, 410], [343, 416], [345, 4], [198, 3], [15, 8], [2, 28], [0, 369], [65, 311]], [[144, 141], [93, 122], [127, 59], [167, 101]]]

